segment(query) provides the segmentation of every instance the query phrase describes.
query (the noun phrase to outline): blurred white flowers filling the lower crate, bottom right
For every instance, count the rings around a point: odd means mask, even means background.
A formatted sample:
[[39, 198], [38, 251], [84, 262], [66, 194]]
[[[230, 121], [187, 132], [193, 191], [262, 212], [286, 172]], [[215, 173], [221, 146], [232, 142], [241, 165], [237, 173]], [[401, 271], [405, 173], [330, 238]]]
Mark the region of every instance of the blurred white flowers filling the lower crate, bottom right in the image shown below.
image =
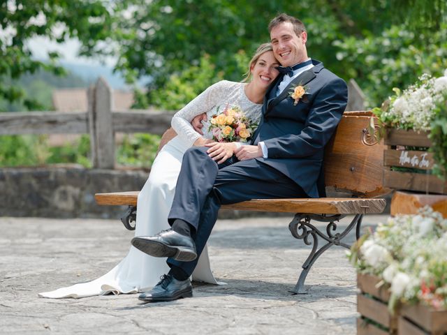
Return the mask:
[[390, 285], [390, 310], [397, 301], [447, 308], [447, 220], [431, 207], [388, 218], [353, 245], [349, 258]]

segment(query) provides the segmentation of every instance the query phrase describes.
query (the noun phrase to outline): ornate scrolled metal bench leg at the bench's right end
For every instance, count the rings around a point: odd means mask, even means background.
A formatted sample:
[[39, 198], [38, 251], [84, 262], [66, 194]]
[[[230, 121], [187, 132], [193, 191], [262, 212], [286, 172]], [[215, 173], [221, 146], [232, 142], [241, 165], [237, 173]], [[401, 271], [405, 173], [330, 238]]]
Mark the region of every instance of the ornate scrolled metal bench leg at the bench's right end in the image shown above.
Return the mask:
[[[309, 270], [314, 262], [318, 259], [318, 257], [321, 256], [321, 254], [328, 250], [328, 248], [330, 248], [332, 245], [343, 246], [344, 248], [351, 248], [351, 246], [349, 246], [348, 244], [343, 243], [342, 239], [344, 239], [344, 237], [346, 237], [346, 235], [354, 227], [356, 227], [356, 237], [360, 237], [360, 225], [362, 224], [363, 214], [357, 214], [356, 216], [354, 216], [353, 221], [351, 221], [351, 223], [343, 232], [337, 232], [334, 234], [335, 230], [337, 230], [337, 224], [335, 223], [335, 221], [339, 221], [339, 219], [343, 217], [344, 215], [341, 214], [331, 216], [327, 216], [325, 214], [295, 214], [292, 222], [288, 225], [288, 229], [291, 231], [295, 239], [302, 239], [308, 246], [312, 245], [312, 251], [303, 263], [300, 278], [298, 278], [298, 282], [296, 283], [295, 288], [290, 291], [291, 293], [295, 295], [302, 295], [306, 293], [306, 276], [309, 273]], [[328, 225], [326, 225], [325, 234], [310, 223], [312, 219], [321, 222], [329, 222]], [[318, 237], [321, 237], [328, 242], [319, 249]]]

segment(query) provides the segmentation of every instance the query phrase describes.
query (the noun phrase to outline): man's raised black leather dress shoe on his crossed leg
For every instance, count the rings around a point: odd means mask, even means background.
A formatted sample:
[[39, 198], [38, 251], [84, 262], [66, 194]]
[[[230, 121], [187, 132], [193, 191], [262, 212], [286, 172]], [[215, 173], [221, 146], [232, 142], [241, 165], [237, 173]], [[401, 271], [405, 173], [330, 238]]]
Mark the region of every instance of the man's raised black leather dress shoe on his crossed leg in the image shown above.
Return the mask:
[[154, 257], [172, 257], [182, 262], [197, 258], [196, 244], [193, 239], [172, 229], [163, 230], [154, 236], [133, 237], [132, 245]]

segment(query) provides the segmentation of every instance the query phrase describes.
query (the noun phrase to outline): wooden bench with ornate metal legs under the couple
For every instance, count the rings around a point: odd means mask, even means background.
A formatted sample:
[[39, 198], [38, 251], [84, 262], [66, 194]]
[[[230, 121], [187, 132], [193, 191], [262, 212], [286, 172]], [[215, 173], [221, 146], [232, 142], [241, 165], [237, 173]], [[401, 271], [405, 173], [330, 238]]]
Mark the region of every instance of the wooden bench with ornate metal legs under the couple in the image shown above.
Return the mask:
[[[314, 262], [330, 246], [350, 246], [343, 242], [346, 235], [356, 228], [360, 237], [362, 217], [365, 214], [379, 214], [386, 206], [386, 200], [375, 198], [388, 193], [382, 187], [383, 144], [377, 143], [367, 132], [372, 114], [370, 112], [345, 112], [332, 140], [325, 148], [325, 186], [349, 191], [352, 198], [307, 198], [249, 200], [222, 206], [222, 209], [244, 211], [270, 211], [295, 213], [288, 225], [293, 237], [312, 245], [312, 251], [302, 265], [302, 271], [294, 294], [305, 293], [305, 279]], [[168, 135], [163, 135], [166, 142]], [[96, 202], [104, 205], [128, 205], [129, 211], [122, 221], [126, 228], [135, 221], [138, 191], [118, 193], [97, 193]], [[351, 223], [337, 232], [337, 221], [346, 215], [354, 215]], [[319, 230], [311, 221], [327, 223], [325, 230]], [[325, 244], [318, 248], [318, 241]]]

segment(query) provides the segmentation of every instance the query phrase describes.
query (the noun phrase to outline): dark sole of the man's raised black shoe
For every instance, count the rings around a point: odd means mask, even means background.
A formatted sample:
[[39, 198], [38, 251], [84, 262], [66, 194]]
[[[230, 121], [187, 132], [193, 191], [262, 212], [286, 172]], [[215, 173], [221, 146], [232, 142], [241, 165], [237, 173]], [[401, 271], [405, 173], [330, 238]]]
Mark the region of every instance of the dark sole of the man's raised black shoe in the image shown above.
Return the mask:
[[143, 253], [154, 257], [172, 257], [180, 262], [191, 262], [197, 258], [197, 253], [191, 251], [190, 248], [167, 246], [159, 241], [147, 241], [147, 239], [134, 237], [132, 245]]

